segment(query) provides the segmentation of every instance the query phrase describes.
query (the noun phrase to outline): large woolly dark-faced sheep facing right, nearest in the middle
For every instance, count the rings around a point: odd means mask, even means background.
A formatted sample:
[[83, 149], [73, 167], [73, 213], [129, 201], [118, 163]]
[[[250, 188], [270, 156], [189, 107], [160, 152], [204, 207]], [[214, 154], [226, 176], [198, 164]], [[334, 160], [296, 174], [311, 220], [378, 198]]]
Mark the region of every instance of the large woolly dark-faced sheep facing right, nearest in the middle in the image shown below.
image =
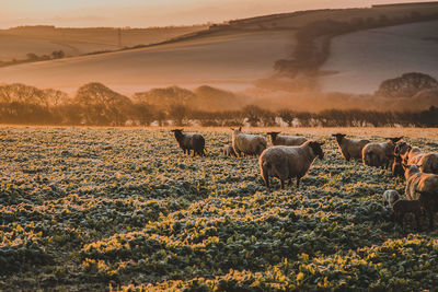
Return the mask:
[[263, 151], [258, 164], [266, 187], [269, 188], [269, 176], [273, 176], [280, 180], [281, 189], [285, 188], [285, 180], [293, 177], [299, 188], [301, 177], [308, 173], [315, 157], [324, 159], [323, 144], [310, 140], [299, 147], [276, 145]]

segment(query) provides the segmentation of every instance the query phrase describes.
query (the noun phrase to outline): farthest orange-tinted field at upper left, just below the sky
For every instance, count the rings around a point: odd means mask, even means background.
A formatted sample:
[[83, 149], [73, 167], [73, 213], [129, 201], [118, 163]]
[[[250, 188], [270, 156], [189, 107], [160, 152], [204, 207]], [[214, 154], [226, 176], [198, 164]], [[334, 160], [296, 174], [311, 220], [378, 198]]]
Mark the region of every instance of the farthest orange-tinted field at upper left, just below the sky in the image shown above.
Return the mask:
[[64, 50], [66, 56], [116, 50], [122, 47], [149, 45], [207, 28], [206, 25], [181, 27], [124, 28], [55, 28], [30, 26], [0, 30], [0, 61], [26, 59], [27, 52], [37, 56]]

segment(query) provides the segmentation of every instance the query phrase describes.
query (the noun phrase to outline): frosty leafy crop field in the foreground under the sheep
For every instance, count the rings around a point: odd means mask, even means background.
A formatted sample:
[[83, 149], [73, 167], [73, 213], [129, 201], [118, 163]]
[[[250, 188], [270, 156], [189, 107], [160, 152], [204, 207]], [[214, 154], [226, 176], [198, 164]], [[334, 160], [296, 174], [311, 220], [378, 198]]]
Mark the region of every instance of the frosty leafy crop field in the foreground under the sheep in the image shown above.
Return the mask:
[[437, 151], [436, 129], [289, 130], [325, 141], [325, 159], [270, 192], [256, 159], [220, 154], [230, 130], [196, 130], [207, 157], [169, 129], [0, 128], [0, 290], [438, 287], [437, 232], [402, 230], [381, 203], [404, 183], [330, 138], [402, 132]]

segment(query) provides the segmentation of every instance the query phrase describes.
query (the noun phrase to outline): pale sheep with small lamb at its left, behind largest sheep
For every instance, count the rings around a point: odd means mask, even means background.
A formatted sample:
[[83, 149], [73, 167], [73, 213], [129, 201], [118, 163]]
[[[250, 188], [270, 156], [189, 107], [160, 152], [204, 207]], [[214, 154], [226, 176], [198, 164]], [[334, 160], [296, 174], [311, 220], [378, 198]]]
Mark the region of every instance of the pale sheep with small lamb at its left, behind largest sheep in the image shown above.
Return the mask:
[[266, 140], [256, 135], [243, 133], [242, 127], [232, 129], [232, 147], [238, 156], [260, 155], [267, 147]]

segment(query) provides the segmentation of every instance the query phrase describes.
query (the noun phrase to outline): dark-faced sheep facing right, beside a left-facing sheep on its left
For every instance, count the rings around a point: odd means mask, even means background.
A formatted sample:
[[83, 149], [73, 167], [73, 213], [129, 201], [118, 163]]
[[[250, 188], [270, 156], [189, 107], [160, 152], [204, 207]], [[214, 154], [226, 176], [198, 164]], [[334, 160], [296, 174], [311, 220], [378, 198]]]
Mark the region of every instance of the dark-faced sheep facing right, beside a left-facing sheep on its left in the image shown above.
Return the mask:
[[390, 161], [394, 157], [395, 143], [402, 139], [387, 138], [383, 143], [368, 143], [362, 149], [364, 165], [388, 168]]

